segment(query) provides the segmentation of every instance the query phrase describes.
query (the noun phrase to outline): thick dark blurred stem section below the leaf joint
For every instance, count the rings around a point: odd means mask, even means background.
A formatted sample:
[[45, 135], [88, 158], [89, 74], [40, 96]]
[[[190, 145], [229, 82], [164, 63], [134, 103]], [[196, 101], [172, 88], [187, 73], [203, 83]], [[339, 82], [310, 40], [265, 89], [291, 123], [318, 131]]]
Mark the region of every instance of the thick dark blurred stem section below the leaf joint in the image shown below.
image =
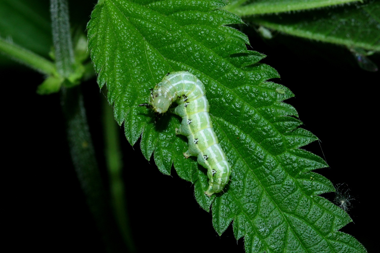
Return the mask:
[[80, 88], [62, 88], [62, 110], [67, 120], [67, 138], [71, 159], [87, 204], [93, 214], [108, 252], [123, 251], [121, 238], [112, 218], [109, 199], [103, 185], [92, 145]]

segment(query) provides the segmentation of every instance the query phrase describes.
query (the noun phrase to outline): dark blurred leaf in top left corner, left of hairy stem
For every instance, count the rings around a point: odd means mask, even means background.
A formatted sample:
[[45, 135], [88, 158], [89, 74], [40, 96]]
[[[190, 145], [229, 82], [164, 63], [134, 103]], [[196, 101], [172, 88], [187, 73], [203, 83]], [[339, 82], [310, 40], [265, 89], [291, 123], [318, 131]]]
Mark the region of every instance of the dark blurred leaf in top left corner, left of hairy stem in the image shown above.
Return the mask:
[[[52, 45], [49, 1], [0, 1], [0, 36], [48, 57]], [[0, 55], [0, 64], [11, 62]]]

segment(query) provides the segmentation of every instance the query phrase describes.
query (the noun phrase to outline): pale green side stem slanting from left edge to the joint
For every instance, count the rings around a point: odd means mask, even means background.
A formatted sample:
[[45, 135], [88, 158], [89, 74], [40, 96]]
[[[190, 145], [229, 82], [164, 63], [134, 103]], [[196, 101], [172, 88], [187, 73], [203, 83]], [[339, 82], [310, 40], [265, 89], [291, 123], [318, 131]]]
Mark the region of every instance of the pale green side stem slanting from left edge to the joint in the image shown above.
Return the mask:
[[23, 63], [42, 74], [51, 75], [55, 73], [54, 63], [3, 38], [0, 38], [0, 52], [4, 52], [13, 60]]

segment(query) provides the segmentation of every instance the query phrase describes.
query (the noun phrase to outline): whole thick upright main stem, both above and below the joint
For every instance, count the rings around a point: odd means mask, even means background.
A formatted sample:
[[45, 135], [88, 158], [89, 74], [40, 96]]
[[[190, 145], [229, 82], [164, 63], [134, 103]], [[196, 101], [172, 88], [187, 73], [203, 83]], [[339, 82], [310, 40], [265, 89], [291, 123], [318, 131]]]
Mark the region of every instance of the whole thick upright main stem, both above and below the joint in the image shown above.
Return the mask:
[[[74, 72], [67, 0], [50, 0], [52, 35], [57, 72], [68, 78]], [[109, 206], [92, 145], [89, 126], [79, 86], [61, 88], [62, 110], [67, 122], [67, 139], [82, 190], [105, 243], [107, 252], [125, 252]]]

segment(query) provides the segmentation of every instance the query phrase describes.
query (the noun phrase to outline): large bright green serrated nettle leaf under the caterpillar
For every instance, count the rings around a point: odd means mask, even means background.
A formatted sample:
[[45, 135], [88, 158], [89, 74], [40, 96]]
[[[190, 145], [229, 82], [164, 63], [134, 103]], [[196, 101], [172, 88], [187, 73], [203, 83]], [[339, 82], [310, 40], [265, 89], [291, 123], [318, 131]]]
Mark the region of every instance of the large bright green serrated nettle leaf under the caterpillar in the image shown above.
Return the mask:
[[[247, 252], [365, 252], [338, 230], [351, 222], [339, 207], [318, 194], [334, 191], [311, 172], [326, 167], [320, 157], [299, 149], [317, 140], [298, 128], [297, 111], [282, 102], [291, 91], [268, 79], [279, 77], [264, 55], [247, 51], [247, 36], [225, 26], [242, 23], [221, 0], [103, 0], [88, 24], [91, 57], [100, 87], [107, 85], [118, 123], [133, 145], [154, 156], [158, 169], [194, 184], [200, 206], [212, 209], [222, 234], [233, 222]], [[206, 170], [185, 159], [186, 138], [175, 135], [180, 119], [155, 116], [138, 107], [167, 72], [189, 70], [206, 87], [210, 115], [232, 166], [224, 193], [211, 198]], [[280, 88], [280, 94], [276, 89]]]

